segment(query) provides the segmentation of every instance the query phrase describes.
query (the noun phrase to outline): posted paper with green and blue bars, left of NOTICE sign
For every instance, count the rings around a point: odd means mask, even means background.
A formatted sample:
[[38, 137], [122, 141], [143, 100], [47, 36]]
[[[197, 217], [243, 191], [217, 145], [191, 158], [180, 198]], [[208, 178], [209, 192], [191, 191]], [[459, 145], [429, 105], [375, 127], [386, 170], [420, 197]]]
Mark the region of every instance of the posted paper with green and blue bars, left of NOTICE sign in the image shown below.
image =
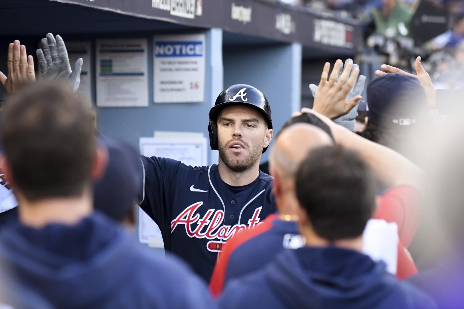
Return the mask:
[[146, 39], [99, 39], [97, 106], [148, 106], [148, 53]]

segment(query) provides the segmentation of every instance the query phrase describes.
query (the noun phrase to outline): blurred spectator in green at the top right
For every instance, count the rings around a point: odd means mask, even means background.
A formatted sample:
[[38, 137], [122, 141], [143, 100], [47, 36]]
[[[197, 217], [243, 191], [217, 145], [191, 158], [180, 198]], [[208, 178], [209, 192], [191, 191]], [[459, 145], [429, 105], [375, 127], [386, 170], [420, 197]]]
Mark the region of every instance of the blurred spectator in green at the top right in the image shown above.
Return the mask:
[[380, 7], [372, 12], [375, 30], [390, 38], [411, 37], [408, 24], [412, 14], [412, 10], [399, 0], [381, 0]]

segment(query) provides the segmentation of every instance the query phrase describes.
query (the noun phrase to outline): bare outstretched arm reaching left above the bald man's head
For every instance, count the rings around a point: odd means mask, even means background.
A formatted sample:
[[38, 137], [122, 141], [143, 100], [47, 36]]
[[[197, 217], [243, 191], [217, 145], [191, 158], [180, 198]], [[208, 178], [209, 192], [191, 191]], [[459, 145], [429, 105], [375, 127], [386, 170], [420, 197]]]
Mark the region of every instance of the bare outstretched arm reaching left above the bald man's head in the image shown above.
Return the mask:
[[399, 184], [411, 184], [418, 187], [424, 179], [424, 172], [398, 152], [365, 139], [314, 110], [303, 108], [301, 112], [314, 114], [324, 121], [332, 131], [335, 143], [358, 152], [373, 168], [377, 177], [388, 187]]

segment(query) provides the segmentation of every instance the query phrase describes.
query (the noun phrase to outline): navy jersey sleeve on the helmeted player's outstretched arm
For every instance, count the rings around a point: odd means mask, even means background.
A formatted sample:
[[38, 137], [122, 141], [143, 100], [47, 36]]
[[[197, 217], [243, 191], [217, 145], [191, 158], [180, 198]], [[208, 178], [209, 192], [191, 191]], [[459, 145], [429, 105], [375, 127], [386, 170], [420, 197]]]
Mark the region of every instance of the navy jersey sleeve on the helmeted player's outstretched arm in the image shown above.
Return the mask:
[[164, 235], [170, 228], [174, 180], [180, 161], [140, 156], [143, 183], [140, 207], [152, 218]]

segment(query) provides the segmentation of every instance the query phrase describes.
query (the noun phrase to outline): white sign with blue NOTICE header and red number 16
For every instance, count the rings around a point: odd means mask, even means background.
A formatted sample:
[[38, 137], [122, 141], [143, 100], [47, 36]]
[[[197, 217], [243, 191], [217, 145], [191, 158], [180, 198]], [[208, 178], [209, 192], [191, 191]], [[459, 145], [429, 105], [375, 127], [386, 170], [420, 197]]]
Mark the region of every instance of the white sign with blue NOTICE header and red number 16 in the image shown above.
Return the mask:
[[154, 39], [155, 103], [205, 100], [205, 35], [163, 35]]

